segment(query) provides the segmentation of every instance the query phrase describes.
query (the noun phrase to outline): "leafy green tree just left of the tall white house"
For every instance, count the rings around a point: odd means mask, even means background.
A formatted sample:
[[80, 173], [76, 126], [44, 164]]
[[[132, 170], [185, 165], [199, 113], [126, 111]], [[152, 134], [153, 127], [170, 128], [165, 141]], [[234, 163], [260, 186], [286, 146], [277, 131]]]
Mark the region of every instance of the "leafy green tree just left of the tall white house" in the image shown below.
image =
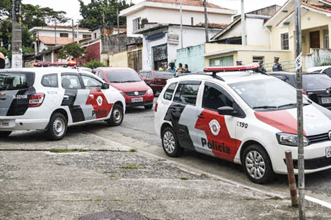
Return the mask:
[[[86, 28], [102, 25], [102, 13], [104, 13], [105, 25], [117, 25], [117, 10], [121, 11], [133, 5], [127, 4], [125, 0], [92, 0], [87, 5], [82, 0], [78, 1], [79, 12], [83, 17], [79, 24]], [[126, 25], [124, 17], [120, 17], [120, 25]]]

